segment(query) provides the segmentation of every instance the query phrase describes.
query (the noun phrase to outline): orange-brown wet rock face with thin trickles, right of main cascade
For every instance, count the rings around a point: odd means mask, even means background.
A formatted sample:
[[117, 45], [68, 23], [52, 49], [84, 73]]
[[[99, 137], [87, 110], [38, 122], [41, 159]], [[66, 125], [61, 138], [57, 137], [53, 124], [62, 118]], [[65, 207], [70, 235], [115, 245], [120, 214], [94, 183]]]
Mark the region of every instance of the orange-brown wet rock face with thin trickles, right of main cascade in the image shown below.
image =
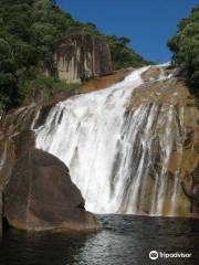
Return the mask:
[[[169, 74], [167, 68], [158, 73], [158, 68], [150, 67], [143, 76], [145, 83], [130, 98], [129, 115], [134, 119], [136, 112], [144, 109], [148, 123], [148, 130], [137, 126], [137, 146], [146, 149], [148, 172], [140, 180], [143, 193], [137, 208], [139, 214], [155, 209], [159, 215], [198, 218], [198, 98], [182, 80], [166, 78]], [[147, 142], [146, 147], [143, 142]]]

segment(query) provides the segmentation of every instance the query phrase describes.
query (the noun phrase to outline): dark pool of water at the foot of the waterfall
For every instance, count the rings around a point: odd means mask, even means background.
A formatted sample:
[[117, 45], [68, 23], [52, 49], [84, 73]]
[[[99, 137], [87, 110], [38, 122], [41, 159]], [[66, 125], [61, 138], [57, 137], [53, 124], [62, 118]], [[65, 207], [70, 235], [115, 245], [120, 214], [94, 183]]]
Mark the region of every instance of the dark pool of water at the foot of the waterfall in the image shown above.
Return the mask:
[[[199, 264], [199, 221], [189, 219], [100, 215], [96, 234], [27, 234], [8, 231], [0, 265], [150, 265]], [[191, 253], [191, 258], [150, 261], [150, 251]]]

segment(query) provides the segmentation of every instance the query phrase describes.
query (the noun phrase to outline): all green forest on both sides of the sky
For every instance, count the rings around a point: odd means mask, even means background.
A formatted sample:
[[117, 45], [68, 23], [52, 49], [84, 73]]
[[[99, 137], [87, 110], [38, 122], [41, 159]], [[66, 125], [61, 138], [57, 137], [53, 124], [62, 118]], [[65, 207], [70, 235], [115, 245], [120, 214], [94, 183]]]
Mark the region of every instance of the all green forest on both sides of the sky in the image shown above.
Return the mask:
[[[0, 110], [20, 105], [35, 87], [48, 93], [72, 87], [57, 77], [54, 49], [60, 40], [75, 33], [102, 38], [109, 45], [114, 70], [151, 63], [129, 47], [128, 38], [105, 35], [95, 24], [74, 20], [56, 1], [0, 0]], [[181, 67], [189, 85], [198, 92], [199, 7], [180, 21], [168, 46], [174, 53], [172, 65]], [[51, 76], [42, 74], [43, 66]]]

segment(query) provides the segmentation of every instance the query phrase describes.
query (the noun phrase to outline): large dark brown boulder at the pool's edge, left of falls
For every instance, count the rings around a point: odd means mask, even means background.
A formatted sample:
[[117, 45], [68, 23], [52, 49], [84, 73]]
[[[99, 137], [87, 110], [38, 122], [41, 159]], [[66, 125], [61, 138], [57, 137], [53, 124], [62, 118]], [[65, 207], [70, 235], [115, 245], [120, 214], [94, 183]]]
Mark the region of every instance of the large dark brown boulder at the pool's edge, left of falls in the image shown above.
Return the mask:
[[4, 190], [4, 216], [10, 225], [27, 231], [100, 229], [84, 210], [65, 165], [38, 149], [29, 150], [13, 168]]

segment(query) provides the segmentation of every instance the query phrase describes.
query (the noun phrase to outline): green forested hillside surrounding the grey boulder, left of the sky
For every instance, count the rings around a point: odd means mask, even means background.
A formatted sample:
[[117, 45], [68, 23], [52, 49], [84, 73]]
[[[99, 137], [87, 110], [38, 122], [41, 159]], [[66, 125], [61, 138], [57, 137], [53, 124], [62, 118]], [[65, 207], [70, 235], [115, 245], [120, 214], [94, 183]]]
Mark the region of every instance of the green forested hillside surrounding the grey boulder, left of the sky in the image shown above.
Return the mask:
[[[147, 64], [128, 47], [128, 39], [107, 36], [93, 23], [75, 21], [53, 0], [0, 0], [0, 108], [21, 104], [35, 86], [56, 89], [63, 85], [54, 66], [54, 46], [80, 32], [106, 40], [115, 70]], [[43, 68], [50, 77], [43, 76]]]

